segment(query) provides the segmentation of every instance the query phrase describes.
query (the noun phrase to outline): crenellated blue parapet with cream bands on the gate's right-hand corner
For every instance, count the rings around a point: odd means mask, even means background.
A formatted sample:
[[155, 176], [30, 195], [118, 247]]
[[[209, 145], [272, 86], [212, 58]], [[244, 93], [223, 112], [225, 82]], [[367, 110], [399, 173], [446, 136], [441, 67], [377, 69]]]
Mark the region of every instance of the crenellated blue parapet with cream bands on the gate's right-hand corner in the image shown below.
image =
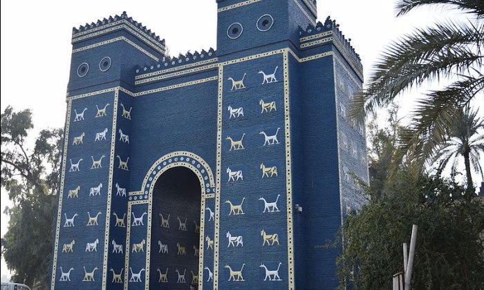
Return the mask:
[[324, 23], [318, 21], [316, 26], [309, 24], [306, 29], [301, 29], [299, 35], [299, 48], [303, 50], [326, 43], [333, 43], [351, 64], [357, 75], [361, 79], [363, 78], [363, 66], [360, 55], [351, 46], [351, 39], [346, 39], [343, 32], [339, 30], [339, 24], [335, 20], [328, 16]]

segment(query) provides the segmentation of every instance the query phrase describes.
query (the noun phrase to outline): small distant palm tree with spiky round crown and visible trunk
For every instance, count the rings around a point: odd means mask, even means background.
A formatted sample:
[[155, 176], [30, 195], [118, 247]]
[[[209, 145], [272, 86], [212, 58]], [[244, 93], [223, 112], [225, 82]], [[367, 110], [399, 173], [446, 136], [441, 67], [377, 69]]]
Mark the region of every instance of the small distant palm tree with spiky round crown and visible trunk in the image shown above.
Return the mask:
[[[467, 175], [467, 188], [472, 189], [471, 171], [481, 173], [480, 155], [484, 153], [484, 135], [478, 131], [484, 129], [484, 119], [477, 117], [477, 110], [469, 107], [460, 110], [449, 128], [446, 141], [438, 146], [434, 161], [440, 160], [439, 171], [452, 161], [452, 172], [456, 171], [459, 155], [464, 157], [465, 175]], [[484, 178], [483, 178], [484, 180]]]

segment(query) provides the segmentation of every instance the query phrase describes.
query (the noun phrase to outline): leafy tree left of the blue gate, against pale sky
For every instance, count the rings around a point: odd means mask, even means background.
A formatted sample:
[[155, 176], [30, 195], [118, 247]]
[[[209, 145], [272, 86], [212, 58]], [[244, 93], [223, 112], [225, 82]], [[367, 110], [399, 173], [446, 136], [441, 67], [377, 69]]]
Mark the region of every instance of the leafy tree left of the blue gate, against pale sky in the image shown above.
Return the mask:
[[64, 134], [43, 130], [29, 150], [32, 128], [30, 110], [8, 106], [1, 113], [1, 187], [13, 204], [5, 209], [10, 221], [1, 253], [12, 280], [29, 285], [48, 282]]

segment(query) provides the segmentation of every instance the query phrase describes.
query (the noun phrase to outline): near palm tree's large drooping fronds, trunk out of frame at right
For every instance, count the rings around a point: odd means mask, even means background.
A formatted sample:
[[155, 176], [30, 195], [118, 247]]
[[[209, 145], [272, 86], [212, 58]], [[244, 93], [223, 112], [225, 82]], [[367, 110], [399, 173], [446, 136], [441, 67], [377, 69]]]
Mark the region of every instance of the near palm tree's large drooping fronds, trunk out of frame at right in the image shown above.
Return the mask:
[[388, 106], [396, 96], [431, 81], [451, 84], [427, 94], [418, 103], [411, 125], [402, 131], [393, 159], [394, 168], [404, 157], [425, 164], [459, 110], [484, 89], [483, 0], [398, 0], [397, 17], [420, 6], [446, 6], [466, 12], [468, 21], [442, 21], [420, 28], [391, 43], [367, 82], [353, 98], [350, 116], [364, 121], [376, 108]]

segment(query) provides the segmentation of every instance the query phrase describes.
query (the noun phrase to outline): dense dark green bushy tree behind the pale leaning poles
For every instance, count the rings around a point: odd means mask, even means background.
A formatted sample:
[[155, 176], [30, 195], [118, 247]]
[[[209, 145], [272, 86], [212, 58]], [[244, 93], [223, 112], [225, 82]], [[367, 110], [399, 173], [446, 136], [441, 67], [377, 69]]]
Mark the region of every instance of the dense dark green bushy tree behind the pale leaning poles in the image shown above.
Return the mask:
[[484, 206], [454, 180], [400, 171], [384, 198], [349, 216], [337, 259], [341, 289], [391, 289], [403, 271], [402, 243], [418, 224], [413, 289], [484, 289]]

